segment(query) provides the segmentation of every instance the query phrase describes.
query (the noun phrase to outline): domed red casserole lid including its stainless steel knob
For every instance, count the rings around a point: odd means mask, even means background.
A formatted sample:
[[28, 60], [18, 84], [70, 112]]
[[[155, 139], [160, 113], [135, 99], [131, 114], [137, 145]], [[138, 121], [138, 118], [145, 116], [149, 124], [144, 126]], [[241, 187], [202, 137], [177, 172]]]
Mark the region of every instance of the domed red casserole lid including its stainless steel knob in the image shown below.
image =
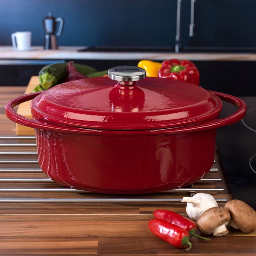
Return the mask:
[[205, 121], [222, 108], [218, 97], [197, 85], [145, 76], [142, 68], [119, 66], [109, 69], [108, 77], [56, 85], [34, 98], [31, 112], [68, 126], [149, 130]]

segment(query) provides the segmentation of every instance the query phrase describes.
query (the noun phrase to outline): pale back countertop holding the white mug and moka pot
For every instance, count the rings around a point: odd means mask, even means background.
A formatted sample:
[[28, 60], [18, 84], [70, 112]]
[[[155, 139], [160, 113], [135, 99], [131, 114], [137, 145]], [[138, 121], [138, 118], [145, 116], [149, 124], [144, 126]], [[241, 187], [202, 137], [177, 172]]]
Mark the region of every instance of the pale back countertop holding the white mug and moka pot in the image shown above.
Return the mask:
[[[0, 46], [0, 60], [164, 60], [189, 59], [210, 61], [255, 61], [254, 53], [160, 53], [160, 52], [77, 52], [86, 46], [60, 46], [58, 50], [43, 50], [33, 46], [30, 51], [13, 50], [11, 46]], [[1, 61], [0, 61], [1, 64]]]

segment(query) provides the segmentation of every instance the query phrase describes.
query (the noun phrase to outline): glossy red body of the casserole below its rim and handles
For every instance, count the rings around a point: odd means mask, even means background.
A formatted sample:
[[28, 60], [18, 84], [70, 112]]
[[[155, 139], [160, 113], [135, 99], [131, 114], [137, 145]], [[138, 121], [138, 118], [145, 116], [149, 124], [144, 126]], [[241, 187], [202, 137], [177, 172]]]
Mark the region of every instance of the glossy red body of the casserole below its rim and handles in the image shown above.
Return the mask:
[[58, 183], [113, 194], [180, 188], [214, 160], [216, 129], [173, 135], [80, 135], [36, 129], [41, 169]]

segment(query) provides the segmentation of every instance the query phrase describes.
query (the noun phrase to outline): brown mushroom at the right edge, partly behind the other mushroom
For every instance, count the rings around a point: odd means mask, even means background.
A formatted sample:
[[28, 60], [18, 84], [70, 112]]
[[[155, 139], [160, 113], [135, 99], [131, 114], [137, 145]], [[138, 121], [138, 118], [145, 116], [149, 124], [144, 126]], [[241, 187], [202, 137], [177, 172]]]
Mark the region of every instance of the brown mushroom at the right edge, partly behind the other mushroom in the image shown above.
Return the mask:
[[231, 215], [229, 225], [240, 229], [244, 233], [251, 233], [256, 229], [256, 211], [241, 200], [228, 201], [224, 206]]

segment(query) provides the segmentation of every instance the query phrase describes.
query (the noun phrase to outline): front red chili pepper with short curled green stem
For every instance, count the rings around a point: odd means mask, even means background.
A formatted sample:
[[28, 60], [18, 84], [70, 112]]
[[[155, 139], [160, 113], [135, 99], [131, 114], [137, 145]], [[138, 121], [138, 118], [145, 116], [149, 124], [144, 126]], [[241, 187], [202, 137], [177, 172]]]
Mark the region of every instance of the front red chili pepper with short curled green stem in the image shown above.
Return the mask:
[[183, 248], [189, 245], [186, 251], [192, 248], [189, 233], [184, 228], [162, 219], [149, 220], [148, 227], [155, 236], [174, 247]]

